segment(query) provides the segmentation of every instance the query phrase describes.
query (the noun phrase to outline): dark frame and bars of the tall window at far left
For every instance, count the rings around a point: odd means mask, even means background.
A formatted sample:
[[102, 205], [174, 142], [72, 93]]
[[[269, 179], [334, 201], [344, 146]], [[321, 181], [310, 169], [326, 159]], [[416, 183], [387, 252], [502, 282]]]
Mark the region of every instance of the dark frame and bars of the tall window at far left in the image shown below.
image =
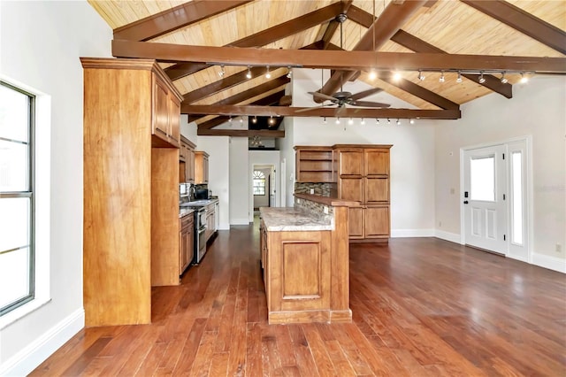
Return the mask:
[[[0, 85], [5, 88], [9, 88], [20, 94], [27, 96], [27, 127], [28, 127], [28, 140], [27, 140], [27, 166], [28, 166], [28, 184], [27, 191], [0, 191], [0, 200], [4, 198], [17, 198], [26, 197], [29, 198], [29, 234], [28, 234], [28, 291], [27, 295], [19, 298], [16, 301], [6, 304], [4, 307], [0, 307], [0, 318], [4, 317], [6, 314], [15, 311], [16, 309], [22, 307], [23, 305], [34, 301], [36, 298], [35, 289], [35, 116], [36, 116], [36, 96], [27, 90], [18, 88], [17, 86], [11, 85], [10, 83], [0, 80]], [[2, 137], [0, 135], [0, 137]], [[3, 138], [7, 142], [17, 142], [11, 139]], [[14, 250], [0, 250], [0, 253], [8, 253]]]

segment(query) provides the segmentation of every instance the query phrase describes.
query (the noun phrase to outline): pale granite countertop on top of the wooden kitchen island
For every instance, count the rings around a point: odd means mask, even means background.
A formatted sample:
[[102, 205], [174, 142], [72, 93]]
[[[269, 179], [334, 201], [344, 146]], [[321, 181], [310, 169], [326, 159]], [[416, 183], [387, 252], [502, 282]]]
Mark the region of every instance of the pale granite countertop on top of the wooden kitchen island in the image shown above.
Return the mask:
[[260, 207], [268, 231], [333, 230], [333, 216], [298, 207]]

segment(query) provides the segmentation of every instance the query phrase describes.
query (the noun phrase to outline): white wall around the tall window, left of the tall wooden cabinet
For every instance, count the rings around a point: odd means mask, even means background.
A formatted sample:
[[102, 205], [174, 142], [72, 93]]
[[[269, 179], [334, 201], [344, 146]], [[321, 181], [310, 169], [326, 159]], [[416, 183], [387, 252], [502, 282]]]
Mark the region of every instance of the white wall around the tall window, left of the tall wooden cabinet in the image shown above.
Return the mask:
[[79, 57], [111, 56], [111, 39], [111, 28], [87, 2], [0, 2], [0, 75], [50, 96], [50, 119], [39, 119], [50, 125], [50, 138], [37, 142], [50, 141], [42, 163], [50, 158], [50, 204], [44, 205], [53, 210], [50, 224], [43, 223], [50, 226], [49, 250], [38, 245], [50, 258], [50, 302], [0, 330], [0, 374], [30, 372], [84, 327]]

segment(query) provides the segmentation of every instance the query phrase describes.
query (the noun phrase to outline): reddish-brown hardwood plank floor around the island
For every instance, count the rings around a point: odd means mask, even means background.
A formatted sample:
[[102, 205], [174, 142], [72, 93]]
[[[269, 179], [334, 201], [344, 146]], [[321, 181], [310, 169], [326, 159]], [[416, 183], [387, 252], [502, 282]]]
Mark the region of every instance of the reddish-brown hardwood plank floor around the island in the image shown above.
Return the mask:
[[352, 324], [267, 324], [258, 230], [220, 231], [153, 323], [80, 331], [32, 373], [564, 376], [566, 276], [434, 238], [350, 248]]

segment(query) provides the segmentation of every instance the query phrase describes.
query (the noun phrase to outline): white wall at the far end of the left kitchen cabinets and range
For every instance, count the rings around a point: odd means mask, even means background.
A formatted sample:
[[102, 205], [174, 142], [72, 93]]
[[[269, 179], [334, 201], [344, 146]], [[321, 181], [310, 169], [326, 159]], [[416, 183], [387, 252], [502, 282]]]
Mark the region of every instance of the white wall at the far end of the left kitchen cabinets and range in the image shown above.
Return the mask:
[[196, 150], [209, 156], [209, 184], [212, 195], [220, 204], [220, 229], [230, 229], [230, 138], [228, 136], [198, 136]]

